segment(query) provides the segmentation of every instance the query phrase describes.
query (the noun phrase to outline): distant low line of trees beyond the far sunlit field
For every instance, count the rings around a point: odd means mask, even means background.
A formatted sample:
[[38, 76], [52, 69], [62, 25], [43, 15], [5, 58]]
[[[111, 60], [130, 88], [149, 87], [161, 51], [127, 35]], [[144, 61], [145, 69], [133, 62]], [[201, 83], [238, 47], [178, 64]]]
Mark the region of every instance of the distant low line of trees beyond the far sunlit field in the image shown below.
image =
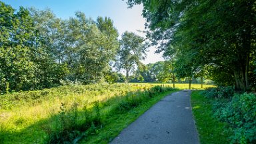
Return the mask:
[[179, 77], [174, 64], [173, 61], [166, 60], [141, 65], [134, 71], [133, 75], [129, 76], [129, 81], [135, 83], [173, 83], [173, 87], [175, 87], [175, 83], [213, 84], [213, 81], [209, 79], [209, 73], [194, 75], [191, 81], [188, 77]]

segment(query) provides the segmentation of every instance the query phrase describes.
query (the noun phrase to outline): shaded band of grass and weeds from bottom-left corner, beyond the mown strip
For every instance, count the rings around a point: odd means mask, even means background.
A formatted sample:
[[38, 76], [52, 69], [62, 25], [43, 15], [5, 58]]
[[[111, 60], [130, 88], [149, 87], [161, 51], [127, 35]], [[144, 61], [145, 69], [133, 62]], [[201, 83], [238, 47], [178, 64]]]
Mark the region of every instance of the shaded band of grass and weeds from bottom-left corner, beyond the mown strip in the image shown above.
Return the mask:
[[[1, 129], [1, 143], [73, 143], [83, 137], [97, 135], [99, 130], [152, 97], [174, 89], [157, 86], [145, 91], [129, 92], [105, 99], [102, 103], [73, 103], [69, 109], [60, 105], [59, 113], [42, 119], [22, 130]], [[20, 123], [22, 125], [22, 123]]]

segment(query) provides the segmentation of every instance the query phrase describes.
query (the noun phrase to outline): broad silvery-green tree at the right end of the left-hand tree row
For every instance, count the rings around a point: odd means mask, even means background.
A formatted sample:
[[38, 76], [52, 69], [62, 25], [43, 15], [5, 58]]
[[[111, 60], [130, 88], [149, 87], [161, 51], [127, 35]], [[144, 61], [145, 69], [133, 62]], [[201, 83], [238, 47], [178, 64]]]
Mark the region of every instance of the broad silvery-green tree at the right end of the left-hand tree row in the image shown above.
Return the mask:
[[109, 63], [114, 60], [119, 46], [113, 21], [98, 17], [95, 22], [78, 11], [76, 17], [67, 23], [67, 41], [71, 45], [65, 61], [71, 70], [71, 77], [73, 81], [79, 80], [84, 84], [97, 83], [109, 71]]

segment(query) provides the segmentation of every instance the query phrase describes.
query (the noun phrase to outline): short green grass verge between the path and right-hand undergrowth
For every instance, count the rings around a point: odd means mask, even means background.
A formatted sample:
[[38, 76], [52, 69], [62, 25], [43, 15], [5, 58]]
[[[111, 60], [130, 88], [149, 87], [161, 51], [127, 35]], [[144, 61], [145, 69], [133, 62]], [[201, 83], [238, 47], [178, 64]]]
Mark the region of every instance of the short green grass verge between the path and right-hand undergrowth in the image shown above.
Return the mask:
[[212, 105], [214, 99], [206, 99], [200, 91], [191, 94], [191, 105], [195, 117], [197, 131], [202, 144], [204, 143], [229, 143], [230, 133], [225, 132], [227, 124], [217, 121], [213, 117]]

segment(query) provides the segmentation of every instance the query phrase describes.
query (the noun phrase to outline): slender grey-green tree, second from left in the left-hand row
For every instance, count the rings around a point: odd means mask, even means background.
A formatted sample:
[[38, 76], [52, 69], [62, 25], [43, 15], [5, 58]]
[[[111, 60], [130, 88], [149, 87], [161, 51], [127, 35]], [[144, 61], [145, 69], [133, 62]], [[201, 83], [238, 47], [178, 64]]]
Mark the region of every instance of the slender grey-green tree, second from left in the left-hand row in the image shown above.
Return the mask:
[[[60, 79], [64, 79], [67, 74], [65, 63], [61, 63], [63, 59], [63, 37], [61, 34], [61, 19], [55, 17], [50, 9], [39, 11], [30, 9], [33, 25], [35, 27], [34, 42], [34, 63], [36, 63], [35, 71], [35, 87], [45, 88], [60, 85]], [[58, 61], [58, 63], [56, 63]]]

